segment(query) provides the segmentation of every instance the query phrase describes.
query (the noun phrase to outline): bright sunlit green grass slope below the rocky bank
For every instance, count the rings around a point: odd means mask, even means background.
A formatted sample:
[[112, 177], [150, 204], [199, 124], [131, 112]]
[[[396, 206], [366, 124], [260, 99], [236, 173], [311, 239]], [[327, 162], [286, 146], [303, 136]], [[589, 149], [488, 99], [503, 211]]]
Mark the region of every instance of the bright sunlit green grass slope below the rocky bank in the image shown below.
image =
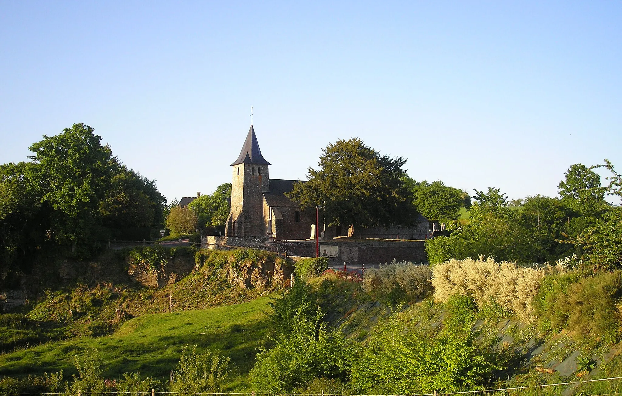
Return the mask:
[[114, 334], [50, 342], [0, 355], [0, 375], [43, 374], [60, 369], [74, 374], [75, 356], [85, 348], [98, 348], [104, 376], [119, 378], [140, 371], [168, 379], [185, 344], [211, 348], [231, 358], [228, 389], [244, 389], [246, 374], [266, 342], [269, 297], [207, 310], [142, 315], [127, 321]]

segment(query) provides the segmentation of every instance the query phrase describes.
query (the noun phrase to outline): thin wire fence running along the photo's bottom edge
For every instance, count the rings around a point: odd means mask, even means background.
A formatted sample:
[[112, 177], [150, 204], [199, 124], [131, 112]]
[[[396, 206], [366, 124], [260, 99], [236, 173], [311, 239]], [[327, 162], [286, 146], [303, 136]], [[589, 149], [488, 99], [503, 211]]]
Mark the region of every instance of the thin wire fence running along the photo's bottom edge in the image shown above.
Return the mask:
[[[610, 381], [610, 380], [618, 380], [622, 379], [622, 377], [609, 377], [609, 378], [600, 378], [600, 379], [590, 379], [583, 381], [570, 381], [570, 382], [559, 382], [557, 384], [542, 384], [542, 385], [532, 385], [532, 386], [522, 386], [522, 387], [509, 387], [509, 388], [497, 388], [497, 389], [480, 389], [480, 390], [463, 390], [461, 392], [440, 392], [434, 391], [432, 393], [427, 394], [325, 394], [324, 392], [319, 394], [294, 394], [294, 393], [260, 393], [260, 392], [167, 392], [167, 391], [158, 391], [156, 389], [151, 389], [146, 392], [82, 392], [78, 390], [78, 392], [72, 392], [72, 395], [82, 396], [82, 395], [121, 395], [121, 394], [140, 394], [140, 395], [150, 395], [156, 396], [159, 395], [239, 395], [239, 396], [442, 396], [442, 395], [486, 395], [491, 394], [493, 392], [504, 392], [508, 390], [524, 390], [524, 389], [542, 389], [547, 387], [555, 387], [555, 386], [564, 386], [564, 385], [577, 385], [577, 384], [588, 384], [590, 382], [601, 382], [601, 381]], [[49, 393], [37, 393], [37, 394], [3, 394], [3, 395], [68, 395], [67, 392], [49, 392]], [[620, 395], [619, 392], [609, 393], [609, 394], [598, 394], [598, 395], [590, 395], [590, 396], [608, 396], [608, 395]]]

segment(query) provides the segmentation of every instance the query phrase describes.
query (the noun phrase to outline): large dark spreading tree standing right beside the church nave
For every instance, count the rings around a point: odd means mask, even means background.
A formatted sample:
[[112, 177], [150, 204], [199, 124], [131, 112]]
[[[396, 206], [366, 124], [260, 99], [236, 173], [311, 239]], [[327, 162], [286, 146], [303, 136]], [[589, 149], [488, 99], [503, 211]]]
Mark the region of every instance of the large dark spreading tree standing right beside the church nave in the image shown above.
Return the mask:
[[289, 197], [302, 208], [323, 206], [328, 224], [409, 225], [415, 217], [412, 192], [404, 181], [402, 157], [380, 155], [358, 138], [338, 140], [322, 150], [309, 181], [295, 183]]

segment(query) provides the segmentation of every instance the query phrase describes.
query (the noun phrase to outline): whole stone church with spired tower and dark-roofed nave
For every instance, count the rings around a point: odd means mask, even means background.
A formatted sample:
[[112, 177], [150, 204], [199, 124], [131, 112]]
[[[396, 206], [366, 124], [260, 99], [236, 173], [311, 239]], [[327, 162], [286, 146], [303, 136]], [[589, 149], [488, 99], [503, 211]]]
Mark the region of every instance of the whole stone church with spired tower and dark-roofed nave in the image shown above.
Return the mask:
[[[269, 165], [251, 124], [238, 159], [231, 163], [231, 211], [225, 235], [267, 236], [272, 241], [314, 239], [315, 210], [301, 210], [299, 203], [285, 196], [300, 180], [271, 179]], [[428, 230], [427, 219], [419, 216], [413, 227], [358, 229], [356, 237], [425, 239]], [[341, 226], [323, 229], [320, 236], [341, 236]]]

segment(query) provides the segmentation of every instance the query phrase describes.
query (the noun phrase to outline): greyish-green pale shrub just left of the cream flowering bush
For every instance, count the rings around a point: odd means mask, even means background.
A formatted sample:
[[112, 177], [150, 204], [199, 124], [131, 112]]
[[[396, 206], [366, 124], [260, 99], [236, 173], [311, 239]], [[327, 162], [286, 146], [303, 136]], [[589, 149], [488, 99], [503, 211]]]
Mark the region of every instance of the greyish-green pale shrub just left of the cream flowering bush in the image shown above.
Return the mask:
[[414, 301], [432, 291], [429, 280], [432, 271], [428, 265], [396, 262], [366, 270], [363, 290], [379, 300], [391, 302]]

